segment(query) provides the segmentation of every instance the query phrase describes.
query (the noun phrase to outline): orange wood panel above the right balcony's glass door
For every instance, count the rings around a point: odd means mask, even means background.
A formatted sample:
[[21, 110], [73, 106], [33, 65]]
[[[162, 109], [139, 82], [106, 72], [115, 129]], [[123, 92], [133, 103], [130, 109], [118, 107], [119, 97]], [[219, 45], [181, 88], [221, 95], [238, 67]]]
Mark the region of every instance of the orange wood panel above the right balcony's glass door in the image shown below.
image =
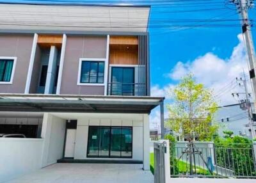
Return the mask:
[[138, 45], [138, 36], [110, 36], [111, 45]]

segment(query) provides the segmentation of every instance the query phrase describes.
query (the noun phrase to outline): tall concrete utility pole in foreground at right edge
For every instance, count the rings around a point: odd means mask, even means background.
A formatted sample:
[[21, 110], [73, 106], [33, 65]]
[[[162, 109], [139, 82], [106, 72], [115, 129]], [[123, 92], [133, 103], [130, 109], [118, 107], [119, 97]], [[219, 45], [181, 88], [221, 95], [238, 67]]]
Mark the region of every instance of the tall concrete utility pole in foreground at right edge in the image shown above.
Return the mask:
[[[254, 97], [254, 106], [256, 109], [255, 97], [256, 97], [256, 78], [255, 78], [255, 70], [256, 70], [256, 63], [255, 63], [255, 50], [253, 47], [253, 40], [252, 40], [252, 33], [251, 33], [251, 24], [248, 17], [248, 10], [253, 6], [253, 0], [232, 0], [237, 7], [237, 12], [241, 15], [242, 22], [242, 32], [244, 36], [244, 42], [246, 44], [246, 50], [248, 54], [248, 66], [249, 66], [249, 74], [252, 83], [252, 91]], [[254, 134], [254, 136], [253, 136]], [[255, 131], [253, 129], [252, 136], [255, 138]]]

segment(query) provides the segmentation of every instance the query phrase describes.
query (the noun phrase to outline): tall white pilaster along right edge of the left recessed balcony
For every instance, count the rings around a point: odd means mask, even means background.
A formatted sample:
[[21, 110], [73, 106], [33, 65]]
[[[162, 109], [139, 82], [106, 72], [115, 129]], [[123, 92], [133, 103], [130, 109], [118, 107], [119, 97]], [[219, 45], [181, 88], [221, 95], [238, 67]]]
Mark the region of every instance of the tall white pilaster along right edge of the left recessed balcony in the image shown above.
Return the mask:
[[60, 95], [61, 78], [62, 78], [62, 72], [63, 72], [63, 63], [64, 63], [64, 56], [65, 56], [66, 42], [67, 42], [67, 35], [64, 34], [63, 38], [62, 38], [61, 54], [60, 54], [60, 67], [59, 67], [59, 74], [58, 74], [58, 83], [57, 83], [57, 88], [56, 88], [57, 95]]

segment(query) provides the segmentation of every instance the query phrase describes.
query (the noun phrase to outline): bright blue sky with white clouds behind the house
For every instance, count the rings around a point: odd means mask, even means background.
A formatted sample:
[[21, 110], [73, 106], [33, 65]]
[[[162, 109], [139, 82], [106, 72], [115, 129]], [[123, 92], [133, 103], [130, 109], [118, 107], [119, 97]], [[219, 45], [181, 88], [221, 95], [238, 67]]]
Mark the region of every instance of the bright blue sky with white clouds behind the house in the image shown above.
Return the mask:
[[[239, 35], [241, 33], [240, 17], [237, 15], [235, 6], [227, 3], [228, 0], [33, 2], [150, 4], [152, 8], [148, 31], [150, 33], [152, 95], [166, 96], [166, 103], [170, 102], [168, 92], [166, 92], [168, 87], [175, 86], [184, 74], [195, 72], [193, 74], [199, 82], [215, 90], [220, 104], [230, 104], [237, 100], [232, 99], [230, 94], [239, 88], [236, 88], [234, 83], [230, 87], [228, 83], [234, 77], [241, 76], [243, 67], [244, 70], [247, 69], [247, 58], [243, 38]], [[250, 10], [249, 15], [250, 19], [256, 19], [256, 8]], [[221, 22], [220, 20], [227, 21]], [[252, 28], [252, 33], [256, 38], [255, 28]], [[227, 90], [227, 88], [232, 88], [232, 90]], [[159, 109], [152, 112], [151, 121], [159, 121]]]

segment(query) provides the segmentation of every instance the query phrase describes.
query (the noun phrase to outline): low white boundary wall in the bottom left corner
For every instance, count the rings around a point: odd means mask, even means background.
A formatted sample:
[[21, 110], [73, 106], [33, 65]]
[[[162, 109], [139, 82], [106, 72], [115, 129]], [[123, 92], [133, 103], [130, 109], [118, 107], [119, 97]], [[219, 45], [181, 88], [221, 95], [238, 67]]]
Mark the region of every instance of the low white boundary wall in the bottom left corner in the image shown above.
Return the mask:
[[0, 138], [0, 182], [41, 168], [43, 139]]

